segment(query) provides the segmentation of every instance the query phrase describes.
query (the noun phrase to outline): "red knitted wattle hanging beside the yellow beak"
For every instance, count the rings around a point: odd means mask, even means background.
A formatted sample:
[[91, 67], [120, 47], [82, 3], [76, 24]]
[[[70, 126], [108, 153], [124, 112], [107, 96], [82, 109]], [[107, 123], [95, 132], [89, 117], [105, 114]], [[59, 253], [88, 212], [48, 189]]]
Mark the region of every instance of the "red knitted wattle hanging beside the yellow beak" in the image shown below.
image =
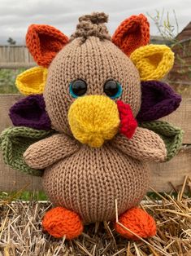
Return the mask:
[[129, 104], [117, 100], [117, 107], [120, 118], [120, 133], [131, 139], [137, 128], [137, 121], [133, 117], [132, 109]]

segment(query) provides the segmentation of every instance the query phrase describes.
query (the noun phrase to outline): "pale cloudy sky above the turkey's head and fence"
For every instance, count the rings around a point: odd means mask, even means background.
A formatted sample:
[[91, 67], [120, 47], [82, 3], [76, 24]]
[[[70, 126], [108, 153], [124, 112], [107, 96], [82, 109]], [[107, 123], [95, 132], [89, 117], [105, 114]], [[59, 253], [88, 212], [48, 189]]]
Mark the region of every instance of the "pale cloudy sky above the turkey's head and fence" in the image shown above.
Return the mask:
[[[148, 13], [153, 17], [156, 10], [164, 20], [169, 20], [179, 32], [191, 21], [191, 0], [0, 0], [0, 44], [13, 38], [24, 44], [29, 24], [50, 24], [70, 36], [76, 29], [80, 15], [104, 11], [109, 15], [107, 28], [111, 35], [121, 21], [130, 15]], [[159, 35], [154, 21], [150, 19], [150, 34]]]

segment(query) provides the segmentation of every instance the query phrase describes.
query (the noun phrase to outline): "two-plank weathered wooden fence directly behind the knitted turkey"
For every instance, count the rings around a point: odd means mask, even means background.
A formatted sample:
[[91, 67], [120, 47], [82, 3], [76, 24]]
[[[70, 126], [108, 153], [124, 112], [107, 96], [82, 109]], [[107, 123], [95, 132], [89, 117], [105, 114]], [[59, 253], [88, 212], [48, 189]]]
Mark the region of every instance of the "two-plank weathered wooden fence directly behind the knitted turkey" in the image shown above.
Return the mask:
[[[0, 95], [0, 133], [6, 127], [11, 126], [8, 117], [9, 108], [20, 98], [20, 95]], [[163, 119], [184, 130], [184, 145], [176, 157], [167, 163], [150, 163], [150, 185], [157, 191], [168, 192], [171, 190], [170, 183], [179, 186], [186, 175], [191, 176], [191, 99], [183, 99], [180, 108]], [[25, 186], [28, 187], [25, 188]], [[41, 190], [41, 178], [12, 170], [3, 163], [2, 152], [0, 152], [0, 191], [20, 188]]]

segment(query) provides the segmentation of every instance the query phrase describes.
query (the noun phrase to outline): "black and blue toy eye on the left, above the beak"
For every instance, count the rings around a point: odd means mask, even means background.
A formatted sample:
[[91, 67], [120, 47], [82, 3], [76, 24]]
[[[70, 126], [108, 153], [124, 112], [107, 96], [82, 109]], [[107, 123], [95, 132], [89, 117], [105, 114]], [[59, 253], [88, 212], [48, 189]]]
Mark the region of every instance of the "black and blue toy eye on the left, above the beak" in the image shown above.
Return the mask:
[[70, 84], [70, 94], [73, 98], [85, 95], [87, 91], [87, 84], [84, 80], [75, 80]]

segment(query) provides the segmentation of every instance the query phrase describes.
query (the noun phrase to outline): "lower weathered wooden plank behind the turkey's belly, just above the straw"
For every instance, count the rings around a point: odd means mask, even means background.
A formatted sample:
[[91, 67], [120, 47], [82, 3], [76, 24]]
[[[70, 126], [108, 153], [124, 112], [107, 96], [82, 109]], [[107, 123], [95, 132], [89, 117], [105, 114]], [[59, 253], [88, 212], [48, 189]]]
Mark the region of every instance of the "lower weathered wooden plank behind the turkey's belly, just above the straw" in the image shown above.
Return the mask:
[[[158, 192], [171, 191], [170, 182], [176, 187], [184, 182], [186, 175], [191, 176], [191, 147], [182, 148], [178, 155], [166, 163], [150, 163], [150, 186]], [[0, 152], [0, 191], [41, 190], [41, 178], [12, 170], [2, 160]]]

